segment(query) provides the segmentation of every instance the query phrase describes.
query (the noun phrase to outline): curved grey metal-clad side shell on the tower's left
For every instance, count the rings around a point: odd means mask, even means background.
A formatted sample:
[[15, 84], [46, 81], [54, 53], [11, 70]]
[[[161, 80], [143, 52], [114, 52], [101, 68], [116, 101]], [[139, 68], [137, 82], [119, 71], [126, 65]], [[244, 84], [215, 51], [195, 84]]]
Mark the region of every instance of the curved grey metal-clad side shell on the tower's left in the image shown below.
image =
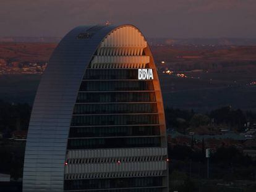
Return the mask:
[[23, 169], [23, 192], [63, 191], [67, 138], [75, 99], [87, 65], [101, 41], [117, 26], [108, 25], [91, 38], [74, 28], [54, 50], [33, 105]]

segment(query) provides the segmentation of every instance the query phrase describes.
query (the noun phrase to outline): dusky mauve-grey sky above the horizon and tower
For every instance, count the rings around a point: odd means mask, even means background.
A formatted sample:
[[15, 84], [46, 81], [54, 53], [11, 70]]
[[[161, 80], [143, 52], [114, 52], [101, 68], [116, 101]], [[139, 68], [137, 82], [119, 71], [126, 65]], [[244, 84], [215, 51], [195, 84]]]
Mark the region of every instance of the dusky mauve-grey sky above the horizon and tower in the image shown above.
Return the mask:
[[0, 0], [0, 36], [63, 36], [106, 20], [148, 37], [256, 38], [256, 0]]

